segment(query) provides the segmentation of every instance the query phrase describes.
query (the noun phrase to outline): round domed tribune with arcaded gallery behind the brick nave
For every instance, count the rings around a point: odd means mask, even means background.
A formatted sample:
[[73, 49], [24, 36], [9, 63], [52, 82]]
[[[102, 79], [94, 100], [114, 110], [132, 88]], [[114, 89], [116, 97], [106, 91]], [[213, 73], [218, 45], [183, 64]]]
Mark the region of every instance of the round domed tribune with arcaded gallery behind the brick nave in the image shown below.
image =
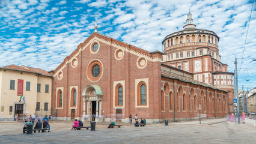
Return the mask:
[[228, 91], [228, 106], [234, 112], [234, 73], [229, 73], [228, 65], [221, 62], [219, 37], [213, 31], [195, 27], [192, 14], [188, 13], [184, 29], [162, 41], [162, 62], [193, 73], [194, 80]]

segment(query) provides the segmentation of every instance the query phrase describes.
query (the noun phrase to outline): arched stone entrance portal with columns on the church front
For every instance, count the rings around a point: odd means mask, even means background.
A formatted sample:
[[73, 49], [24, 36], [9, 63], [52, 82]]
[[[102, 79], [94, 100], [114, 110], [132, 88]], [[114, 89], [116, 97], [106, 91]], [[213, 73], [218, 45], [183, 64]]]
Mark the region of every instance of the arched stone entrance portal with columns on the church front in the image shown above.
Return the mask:
[[[84, 101], [83, 121], [91, 121], [92, 101], [96, 101], [96, 118], [95, 121], [102, 121], [102, 89], [98, 85], [87, 85], [82, 91]], [[85, 113], [85, 103], [87, 104], [87, 112]]]

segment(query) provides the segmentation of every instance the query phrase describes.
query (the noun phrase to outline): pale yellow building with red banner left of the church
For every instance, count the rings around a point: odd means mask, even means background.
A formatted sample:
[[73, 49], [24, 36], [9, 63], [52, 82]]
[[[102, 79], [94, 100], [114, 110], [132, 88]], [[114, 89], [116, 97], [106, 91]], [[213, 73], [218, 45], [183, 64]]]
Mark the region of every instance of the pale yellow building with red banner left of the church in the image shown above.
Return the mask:
[[[0, 120], [50, 114], [52, 75], [24, 65], [0, 67]], [[21, 98], [21, 99], [20, 99]]]

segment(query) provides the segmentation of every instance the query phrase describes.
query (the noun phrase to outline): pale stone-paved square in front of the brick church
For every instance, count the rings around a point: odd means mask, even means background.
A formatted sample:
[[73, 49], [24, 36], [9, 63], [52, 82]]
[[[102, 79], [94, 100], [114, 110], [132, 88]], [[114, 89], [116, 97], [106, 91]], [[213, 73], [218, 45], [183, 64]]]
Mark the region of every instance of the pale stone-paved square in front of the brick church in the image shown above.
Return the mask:
[[[164, 126], [163, 124], [146, 125], [145, 127], [125, 125], [123, 128], [111, 129], [107, 129], [107, 125], [97, 124], [96, 131], [70, 131], [70, 125], [72, 125], [72, 122], [51, 123], [51, 133], [33, 133], [32, 135], [26, 135], [20, 133], [22, 124], [0, 123], [0, 143], [256, 142], [256, 128], [245, 124], [230, 124], [226, 122], [225, 119], [207, 119], [202, 121], [201, 125], [198, 121], [187, 121], [169, 123], [169, 126]], [[10, 133], [10, 131], [15, 130], [19, 131], [17, 131], [17, 133]]]

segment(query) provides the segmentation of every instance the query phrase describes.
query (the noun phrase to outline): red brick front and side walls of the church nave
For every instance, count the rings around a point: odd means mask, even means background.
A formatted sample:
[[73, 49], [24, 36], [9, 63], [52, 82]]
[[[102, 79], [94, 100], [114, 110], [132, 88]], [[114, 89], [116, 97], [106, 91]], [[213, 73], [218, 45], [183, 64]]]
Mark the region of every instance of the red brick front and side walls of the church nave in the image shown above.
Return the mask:
[[[96, 51], [91, 50], [94, 43], [99, 44]], [[70, 119], [74, 115], [72, 112], [75, 112], [75, 118], [90, 120], [91, 115], [96, 113], [96, 121], [116, 119], [128, 122], [129, 115], [134, 117], [138, 114], [139, 118], [148, 119], [148, 122], [159, 122], [163, 118], [171, 121], [198, 118], [198, 104], [207, 107], [206, 110], [202, 109], [207, 117], [225, 116], [228, 113], [227, 92], [205, 83], [197, 84], [192, 79], [192, 73], [174, 67], [164, 66], [190, 78], [186, 81], [183, 78], [163, 77], [162, 55], [94, 32], [53, 72], [52, 109], [56, 109], [53, 115], [59, 119]], [[96, 64], [100, 66], [100, 74], [93, 77], [91, 71]], [[119, 86], [123, 88], [119, 94], [123, 97], [123, 105], [118, 104]], [[75, 90], [77, 103], [73, 106]], [[61, 107], [58, 91], [62, 92]]]

